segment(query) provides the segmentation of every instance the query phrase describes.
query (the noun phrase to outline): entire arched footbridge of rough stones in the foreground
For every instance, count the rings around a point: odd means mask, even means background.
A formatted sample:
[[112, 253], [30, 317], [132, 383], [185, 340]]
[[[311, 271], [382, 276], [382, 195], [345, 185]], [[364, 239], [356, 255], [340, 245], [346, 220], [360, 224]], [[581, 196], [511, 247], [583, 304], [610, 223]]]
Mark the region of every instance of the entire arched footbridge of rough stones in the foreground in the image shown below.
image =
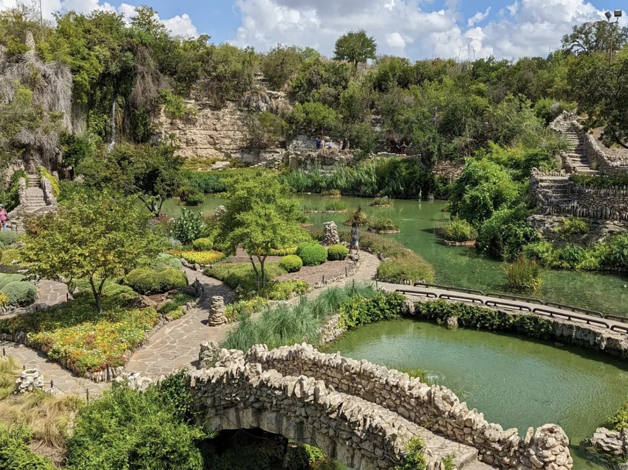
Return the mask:
[[568, 438], [556, 425], [504, 431], [451, 390], [367, 361], [303, 344], [242, 351], [204, 343], [190, 371], [193, 406], [210, 429], [260, 428], [316, 445], [356, 470], [394, 469], [420, 437], [428, 469], [453, 454], [458, 469], [569, 470]]

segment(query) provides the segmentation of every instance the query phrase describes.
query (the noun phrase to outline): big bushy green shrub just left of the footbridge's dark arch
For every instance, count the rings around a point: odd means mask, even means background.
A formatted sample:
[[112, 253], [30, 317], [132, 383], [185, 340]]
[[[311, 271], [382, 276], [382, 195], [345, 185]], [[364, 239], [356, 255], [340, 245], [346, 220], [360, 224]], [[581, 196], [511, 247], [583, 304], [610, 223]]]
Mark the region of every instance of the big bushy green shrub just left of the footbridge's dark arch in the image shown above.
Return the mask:
[[188, 422], [191, 402], [181, 373], [143, 393], [114, 384], [78, 412], [68, 440], [67, 466], [202, 470], [198, 444], [209, 436]]

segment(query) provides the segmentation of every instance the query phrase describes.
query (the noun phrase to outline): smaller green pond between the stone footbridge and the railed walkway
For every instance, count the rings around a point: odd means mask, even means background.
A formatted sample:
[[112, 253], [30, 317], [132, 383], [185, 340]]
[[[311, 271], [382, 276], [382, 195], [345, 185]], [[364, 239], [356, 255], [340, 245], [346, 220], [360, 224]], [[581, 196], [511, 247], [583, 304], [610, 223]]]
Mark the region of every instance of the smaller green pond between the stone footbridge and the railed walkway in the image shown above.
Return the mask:
[[425, 368], [469, 408], [521, 436], [530, 426], [558, 424], [570, 438], [575, 469], [602, 468], [587, 461], [580, 444], [627, 398], [625, 364], [526, 337], [400, 319], [347, 332], [326, 349], [389, 368]]

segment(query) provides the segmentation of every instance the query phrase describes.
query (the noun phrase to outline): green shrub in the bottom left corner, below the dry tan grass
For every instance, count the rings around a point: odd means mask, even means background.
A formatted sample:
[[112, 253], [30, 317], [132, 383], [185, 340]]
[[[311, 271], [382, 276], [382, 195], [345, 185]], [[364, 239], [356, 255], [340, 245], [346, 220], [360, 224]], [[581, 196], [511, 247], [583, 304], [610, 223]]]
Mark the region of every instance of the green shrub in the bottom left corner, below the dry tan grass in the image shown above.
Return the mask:
[[0, 470], [55, 470], [46, 457], [31, 451], [28, 432], [23, 427], [8, 431], [0, 427]]

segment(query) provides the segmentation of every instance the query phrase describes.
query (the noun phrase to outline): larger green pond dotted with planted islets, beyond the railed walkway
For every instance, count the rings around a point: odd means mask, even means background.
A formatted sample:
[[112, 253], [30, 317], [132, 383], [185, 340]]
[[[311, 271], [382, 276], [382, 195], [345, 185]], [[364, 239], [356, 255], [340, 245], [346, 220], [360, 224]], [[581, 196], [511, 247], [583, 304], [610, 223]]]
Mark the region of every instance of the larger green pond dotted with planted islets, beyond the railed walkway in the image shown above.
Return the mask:
[[[342, 201], [348, 207], [362, 207], [372, 216], [392, 219], [401, 228], [401, 233], [391, 235], [406, 247], [421, 254], [434, 265], [436, 282], [479, 289], [486, 292], [507, 292], [506, 278], [501, 272], [502, 263], [482, 258], [470, 248], [445, 246], [435, 229], [449, 220], [449, 214], [442, 212], [443, 201], [420, 202], [416, 200], [395, 200], [394, 207], [369, 207], [371, 199], [342, 197], [330, 199], [317, 195], [301, 195], [304, 205], [316, 205], [323, 209], [330, 201]], [[191, 210], [213, 210], [220, 204], [214, 195], [207, 195], [205, 204]], [[176, 200], [166, 201], [163, 208], [173, 217], [181, 212]], [[342, 224], [347, 214], [309, 214], [315, 226], [333, 220], [339, 229], [349, 229]], [[604, 314], [625, 315], [622, 305], [628, 305], [628, 280], [619, 276], [583, 273], [575, 271], [546, 270], [543, 285], [537, 297], [543, 300], [567, 303], [587, 309], [599, 310]]]

